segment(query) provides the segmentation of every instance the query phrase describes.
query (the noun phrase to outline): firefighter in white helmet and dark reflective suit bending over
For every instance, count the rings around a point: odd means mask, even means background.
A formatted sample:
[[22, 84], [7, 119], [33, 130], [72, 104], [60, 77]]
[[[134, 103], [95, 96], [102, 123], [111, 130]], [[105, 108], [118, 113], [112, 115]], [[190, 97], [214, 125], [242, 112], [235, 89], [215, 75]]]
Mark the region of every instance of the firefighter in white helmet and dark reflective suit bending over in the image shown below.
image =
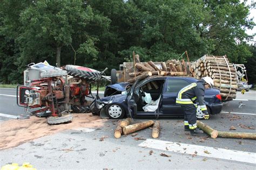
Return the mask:
[[184, 112], [184, 128], [185, 131], [190, 131], [191, 135], [197, 135], [204, 133], [202, 130], [197, 128], [197, 104], [198, 101], [201, 111], [205, 115], [204, 119], [209, 118], [209, 114], [205, 105], [204, 95], [205, 89], [213, 87], [213, 80], [211, 77], [203, 77], [196, 83], [181, 89], [177, 95], [176, 103], [181, 106]]

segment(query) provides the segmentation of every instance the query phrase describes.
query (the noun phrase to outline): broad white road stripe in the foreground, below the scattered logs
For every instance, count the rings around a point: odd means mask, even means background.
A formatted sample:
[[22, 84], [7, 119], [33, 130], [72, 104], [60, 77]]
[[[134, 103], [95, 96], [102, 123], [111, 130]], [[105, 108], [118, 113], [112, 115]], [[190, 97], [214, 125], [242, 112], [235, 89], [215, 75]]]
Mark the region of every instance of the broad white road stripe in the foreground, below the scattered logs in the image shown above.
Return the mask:
[[[177, 152], [185, 154], [196, 154], [202, 157], [233, 160], [256, 164], [256, 153], [227, 150], [224, 148], [174, 143], [164, 140], [146, 139], [138, 146], [163, 150], [165, 152]], [[168, 150], [167, 150], [168, 149]]]

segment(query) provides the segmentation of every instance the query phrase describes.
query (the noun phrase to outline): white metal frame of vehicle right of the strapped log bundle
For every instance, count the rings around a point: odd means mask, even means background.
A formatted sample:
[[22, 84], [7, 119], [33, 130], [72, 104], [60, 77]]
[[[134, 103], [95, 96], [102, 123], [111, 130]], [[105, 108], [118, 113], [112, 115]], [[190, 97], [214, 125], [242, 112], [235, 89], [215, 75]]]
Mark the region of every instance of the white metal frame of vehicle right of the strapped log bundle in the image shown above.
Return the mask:
[[238, 91], [246, 90], [249, 91], [252, 84], [248, 84], [248, 78], [246, 74], [245, 65], [234, 64], [235, 71], [237, 73], [237, 85]]

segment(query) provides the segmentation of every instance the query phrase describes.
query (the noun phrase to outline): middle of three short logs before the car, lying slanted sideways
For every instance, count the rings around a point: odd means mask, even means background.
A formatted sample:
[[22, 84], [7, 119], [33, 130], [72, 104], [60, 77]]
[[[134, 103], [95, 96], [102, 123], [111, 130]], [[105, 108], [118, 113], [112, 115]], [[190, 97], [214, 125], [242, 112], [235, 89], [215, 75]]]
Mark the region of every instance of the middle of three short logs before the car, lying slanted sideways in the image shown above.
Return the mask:
[[146, 129], [149, 128], [150, 126], [152, 126], [154, 124], [154, 121], [146, 121], [146, 122], [142, 122], [142, 123], [136, 123], [133, 125], [129, 125], [129, 126], [125, 126], [123, 128], [123, 133], [125, 135], [142, 130], [142, 129]]

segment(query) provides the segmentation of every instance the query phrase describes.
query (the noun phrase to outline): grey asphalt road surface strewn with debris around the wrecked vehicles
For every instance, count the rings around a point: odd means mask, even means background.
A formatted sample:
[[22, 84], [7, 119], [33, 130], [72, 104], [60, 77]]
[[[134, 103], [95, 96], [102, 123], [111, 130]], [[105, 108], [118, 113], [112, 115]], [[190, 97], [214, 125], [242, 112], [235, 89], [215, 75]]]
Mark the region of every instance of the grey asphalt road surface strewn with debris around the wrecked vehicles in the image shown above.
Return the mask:
[[[6, 96], [15, 95], [14, 89], [0, 89], [0, 94], [5, 94], [0, 95], [0, 113], [17, 115], [22, 111], [13, 103], [15, 97]], [[245, 128], [256, 126], [255, 96], [253, 90], [245, 95], [238, 93], [236, 100], [224, 103], [221, 114], [203, 122], [216, 130], [230, 131], [230, 126], [234, 126], [237, 130], [233, 132], [255, 133], [255, 129]], [[134, 119], [133, 123], [146, 120]], [[149, 128], [138, 131], [135, 137], [129, 134], [115, 139], [117, 122], [109, 120], [92, 132], [66, 130], [0, 151], [0, 166], [28, 161], [38, 169], [255, 169], [255, 140], [212, 139], [206, 134], [194, 137], [183, 130], [182, 118], [159, 121], [161, 132], [157, 140], [152, 139]], [[103, 136], [107, 138], [100, 141]], [[134, 140], [136, 137], [143, 140]], [[63, 148], [72, 150], [66, 152]], [[162, 153], [169, 157], [161, 156]]]

